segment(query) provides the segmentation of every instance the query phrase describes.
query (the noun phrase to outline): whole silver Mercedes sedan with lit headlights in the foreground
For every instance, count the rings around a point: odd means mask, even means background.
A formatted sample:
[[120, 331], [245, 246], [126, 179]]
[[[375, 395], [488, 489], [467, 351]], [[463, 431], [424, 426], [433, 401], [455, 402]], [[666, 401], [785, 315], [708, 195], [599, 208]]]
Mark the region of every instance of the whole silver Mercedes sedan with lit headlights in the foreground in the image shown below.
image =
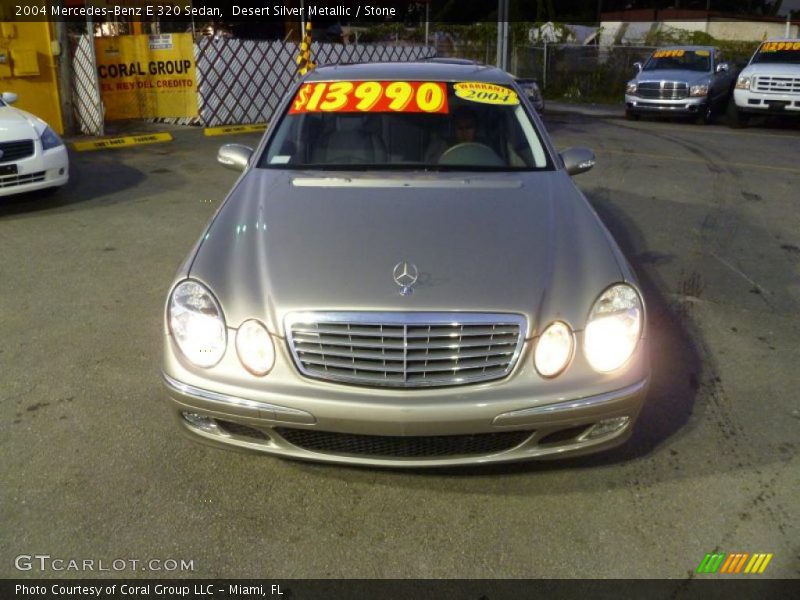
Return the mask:
[[648, 382], [617, 245], [506, 73], [425, 63], [299, 82], [176, 275], [163, 378], [196, 439], [442, 466], [624, 441]]

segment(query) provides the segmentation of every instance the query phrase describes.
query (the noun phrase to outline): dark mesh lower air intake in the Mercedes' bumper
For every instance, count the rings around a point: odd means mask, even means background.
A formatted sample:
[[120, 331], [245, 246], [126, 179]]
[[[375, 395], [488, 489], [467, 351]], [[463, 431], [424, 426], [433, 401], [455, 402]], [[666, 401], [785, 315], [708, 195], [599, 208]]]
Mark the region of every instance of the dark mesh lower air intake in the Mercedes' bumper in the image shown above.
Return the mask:
[[471, 435], [382, 436], [357, 435], [278, 427], [287, 442], [324, 454], [352, 454], [375, 458], [436, 458], [496, 454], [527, 440], [532, 431], [502, 431]]

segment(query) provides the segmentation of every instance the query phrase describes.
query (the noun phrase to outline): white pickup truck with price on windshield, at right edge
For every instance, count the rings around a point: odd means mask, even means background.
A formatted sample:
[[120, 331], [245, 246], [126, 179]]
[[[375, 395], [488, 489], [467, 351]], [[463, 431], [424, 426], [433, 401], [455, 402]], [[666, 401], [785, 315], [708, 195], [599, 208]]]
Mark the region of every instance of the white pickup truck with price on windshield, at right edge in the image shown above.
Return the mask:
[[744, 127], [756, 114], [800, 117], [800, 39], [763, 42], [739, 73], [728, 124]]

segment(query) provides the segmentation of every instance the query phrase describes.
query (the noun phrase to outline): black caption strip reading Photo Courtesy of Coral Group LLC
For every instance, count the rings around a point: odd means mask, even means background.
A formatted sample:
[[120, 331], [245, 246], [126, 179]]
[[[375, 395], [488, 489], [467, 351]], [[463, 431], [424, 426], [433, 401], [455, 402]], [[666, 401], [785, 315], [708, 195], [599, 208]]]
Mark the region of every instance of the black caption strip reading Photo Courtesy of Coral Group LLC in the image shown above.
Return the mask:
[[4, 580], [4, 600], [527, 600], [543, 598], [619, 598], [736, 600], [800, 597], [800, 580], [760, 576], [704, 577], [688, 580]]

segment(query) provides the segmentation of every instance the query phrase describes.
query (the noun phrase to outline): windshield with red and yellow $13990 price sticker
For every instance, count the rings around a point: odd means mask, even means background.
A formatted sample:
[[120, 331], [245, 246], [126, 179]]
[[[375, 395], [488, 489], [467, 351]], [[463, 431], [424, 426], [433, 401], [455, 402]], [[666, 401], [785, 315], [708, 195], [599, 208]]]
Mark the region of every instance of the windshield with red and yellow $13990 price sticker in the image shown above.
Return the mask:
[[481, 82], [302, 86], [262, 168], [508, 171], [552, 168], [511, 88]]

